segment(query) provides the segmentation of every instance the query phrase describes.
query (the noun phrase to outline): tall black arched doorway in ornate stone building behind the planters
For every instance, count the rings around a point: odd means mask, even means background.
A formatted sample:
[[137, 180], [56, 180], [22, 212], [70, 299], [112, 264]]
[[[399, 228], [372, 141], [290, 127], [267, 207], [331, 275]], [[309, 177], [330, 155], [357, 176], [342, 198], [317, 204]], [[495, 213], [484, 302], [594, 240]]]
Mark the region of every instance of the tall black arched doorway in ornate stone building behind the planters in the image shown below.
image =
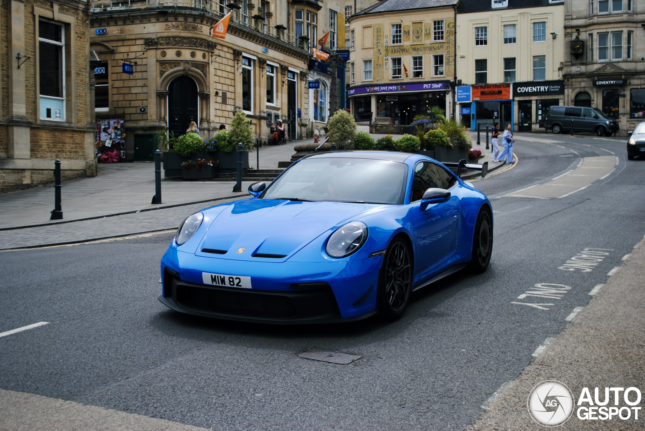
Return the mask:
[[199, 126], [199, 99], [197, 84], [193, 78], [177, 77], [168, 86], [168, 131], [175, 133], [175, 138], [186, 133], [190, 122]]

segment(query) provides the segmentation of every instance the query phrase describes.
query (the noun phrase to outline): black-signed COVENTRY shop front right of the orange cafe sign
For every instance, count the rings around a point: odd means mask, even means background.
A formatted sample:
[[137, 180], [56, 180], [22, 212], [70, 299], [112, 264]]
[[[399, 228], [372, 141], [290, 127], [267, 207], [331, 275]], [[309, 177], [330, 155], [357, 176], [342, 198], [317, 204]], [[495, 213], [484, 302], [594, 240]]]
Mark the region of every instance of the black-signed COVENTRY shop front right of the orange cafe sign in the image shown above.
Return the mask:
[[537, 132], [544, 128], [548, 107], [564, 105], [564, 81], [513, 82], [517, 131]]

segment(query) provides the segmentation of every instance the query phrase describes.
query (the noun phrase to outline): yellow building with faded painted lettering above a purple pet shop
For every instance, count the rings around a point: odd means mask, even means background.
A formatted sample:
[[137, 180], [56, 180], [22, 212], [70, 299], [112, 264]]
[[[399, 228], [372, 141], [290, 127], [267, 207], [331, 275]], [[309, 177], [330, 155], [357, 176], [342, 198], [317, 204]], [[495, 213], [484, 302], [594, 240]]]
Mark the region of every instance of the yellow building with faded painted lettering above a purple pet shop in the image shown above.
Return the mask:
[[348, 98], [357, 122], [401, 133], [430, 107], [452, 116], [457, 4], [382, 0], [350, 17]]

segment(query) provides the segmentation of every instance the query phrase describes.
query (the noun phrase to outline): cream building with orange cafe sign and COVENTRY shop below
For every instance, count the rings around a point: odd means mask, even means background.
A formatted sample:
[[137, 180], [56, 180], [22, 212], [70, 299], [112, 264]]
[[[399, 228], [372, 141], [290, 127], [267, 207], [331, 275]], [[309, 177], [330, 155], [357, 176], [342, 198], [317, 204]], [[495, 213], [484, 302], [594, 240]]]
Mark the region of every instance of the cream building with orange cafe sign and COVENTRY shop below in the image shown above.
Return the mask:
[[457, 14], [457, 117], [539, 131], [564, 104], [564, 1], [469, 0]]

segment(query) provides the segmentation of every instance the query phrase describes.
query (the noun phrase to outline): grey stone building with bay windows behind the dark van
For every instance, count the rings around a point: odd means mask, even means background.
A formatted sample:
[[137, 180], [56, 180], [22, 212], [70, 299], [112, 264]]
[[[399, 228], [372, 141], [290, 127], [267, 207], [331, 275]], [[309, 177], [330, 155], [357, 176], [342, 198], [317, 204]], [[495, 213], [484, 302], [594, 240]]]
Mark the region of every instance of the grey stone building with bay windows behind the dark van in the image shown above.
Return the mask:
[[595, 107], [620, 136], [645, 120], [645, 3], [565, 1], [566, 105]]

